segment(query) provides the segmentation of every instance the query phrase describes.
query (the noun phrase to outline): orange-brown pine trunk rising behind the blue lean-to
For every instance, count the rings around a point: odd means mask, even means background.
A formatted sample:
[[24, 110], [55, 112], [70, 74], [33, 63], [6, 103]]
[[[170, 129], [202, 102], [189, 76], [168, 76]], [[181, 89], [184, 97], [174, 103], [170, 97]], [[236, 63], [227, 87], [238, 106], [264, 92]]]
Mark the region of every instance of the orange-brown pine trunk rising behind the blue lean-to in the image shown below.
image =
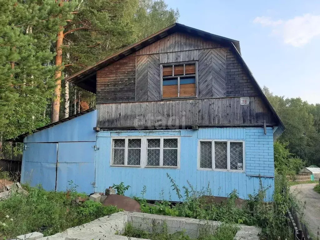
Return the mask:
[[[59, 6], [62, 7], [64, 0], [60, 0]], [[52, 101], [52, 111], [51, 111], [51, 122], [59, 121], [59, 110], [60, 110], [60, 94], [61, 94], [61, 65], [62, 65], [62, 43], [63, 43], [63, 27], [60, 26], [60, 31], [57, 36], [56, 45], [56, 61], [55, 65], [58, 70], [55, 72], [56, 88], [54, 89], [53, 101]]]

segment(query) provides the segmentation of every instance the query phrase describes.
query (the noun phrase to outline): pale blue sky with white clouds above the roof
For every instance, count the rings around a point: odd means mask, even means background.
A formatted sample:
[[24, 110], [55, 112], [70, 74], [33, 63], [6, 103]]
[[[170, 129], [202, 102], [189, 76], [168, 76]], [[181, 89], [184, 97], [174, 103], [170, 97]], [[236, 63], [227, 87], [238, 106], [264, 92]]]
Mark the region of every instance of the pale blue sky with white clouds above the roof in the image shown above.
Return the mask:
[[319, 0], [165, 2], [179, 9], [179, 23], [240, 41], [261, 87], [320, 103]]

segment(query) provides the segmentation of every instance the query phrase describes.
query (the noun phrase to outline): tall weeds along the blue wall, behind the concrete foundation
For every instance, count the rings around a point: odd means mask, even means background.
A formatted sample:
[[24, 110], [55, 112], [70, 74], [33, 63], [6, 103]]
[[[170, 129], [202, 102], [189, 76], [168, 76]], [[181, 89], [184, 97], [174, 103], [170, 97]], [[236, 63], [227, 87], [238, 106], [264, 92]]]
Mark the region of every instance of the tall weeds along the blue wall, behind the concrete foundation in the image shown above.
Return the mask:
[[[188, 217], [204, 220], [217, 220], [224, 223], [255, 225], [262, 228], [261, 239], [289, 239], [291, 230], [287, 227], [286, 210], [290, 204], [287, 181], [284, 176], [276, 175], [274, 203], [265, 202], [266, 191], [260, 180], [259, 191], [255, 195], [249, 195], [249, 200], [242, 207], [236, 206], [238, 198], [236, 190], [230, 193], [226, 202], [212, 203], [206, 201], [203, 195], [208, 195], [210, 186], [202, 191], [196, 191], [191, 184], [183, 187], [184, 197], [180, 188], [170, 178], [173, 190], [180, 194], [183, 201], [172, 204], [168, 201], [156, 202], [150, 206], [144, 199], [147, 191], [144, 186], [141, 197], [135, 197], [140, 202], [141, 211], [152, 214]], [[179, 191], [177, 190], [179, 189]], [[211, 194], [210, 194], [211, 195]]]

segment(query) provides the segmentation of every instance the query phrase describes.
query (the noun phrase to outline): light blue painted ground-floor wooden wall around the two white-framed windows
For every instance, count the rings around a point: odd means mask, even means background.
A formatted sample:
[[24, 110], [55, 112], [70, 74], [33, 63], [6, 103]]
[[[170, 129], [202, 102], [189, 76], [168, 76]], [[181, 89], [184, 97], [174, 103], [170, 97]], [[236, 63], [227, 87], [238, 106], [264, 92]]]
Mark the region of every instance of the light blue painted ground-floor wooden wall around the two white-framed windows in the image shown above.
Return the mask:
[[[110, 166], [111, 137], [113, 136], [181, 136], [180, 169], [159, 169]], [[199, 139], [245, 140], [245, 173], [197, 170], [197, 145]], [[273, 129], [267, 128], [203, 128], [170, 131], [102, 131], [97, 135], [96, 186], [95, 192], [104, 192], [113, 184], [124, 182], [131, 188], [127, 196], [140, 196], [146, 185], [145, 198], [149, 200], [171, 199], [178, 201], [166, 174], [176, 181], [181, 191], [189, 183], [198, 191], [210, 188], [213, 196], [227, 197], [234, 189], [240, 198], [248, 199], [259, 189], [259, 174], [267, 191], [267, 200], [272, 200], [274, 190]], [[162, 194], [163, 192], [163, 194]]]

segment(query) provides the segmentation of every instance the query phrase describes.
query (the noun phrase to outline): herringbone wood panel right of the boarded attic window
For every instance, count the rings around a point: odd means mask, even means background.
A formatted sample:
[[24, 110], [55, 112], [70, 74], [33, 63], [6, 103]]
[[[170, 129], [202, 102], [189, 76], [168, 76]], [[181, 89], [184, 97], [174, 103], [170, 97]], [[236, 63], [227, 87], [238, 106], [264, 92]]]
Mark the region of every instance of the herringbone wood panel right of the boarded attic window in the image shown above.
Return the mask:
[[199, 50], [198, 72], [199, 98], [227, 95], [225, 48]]

